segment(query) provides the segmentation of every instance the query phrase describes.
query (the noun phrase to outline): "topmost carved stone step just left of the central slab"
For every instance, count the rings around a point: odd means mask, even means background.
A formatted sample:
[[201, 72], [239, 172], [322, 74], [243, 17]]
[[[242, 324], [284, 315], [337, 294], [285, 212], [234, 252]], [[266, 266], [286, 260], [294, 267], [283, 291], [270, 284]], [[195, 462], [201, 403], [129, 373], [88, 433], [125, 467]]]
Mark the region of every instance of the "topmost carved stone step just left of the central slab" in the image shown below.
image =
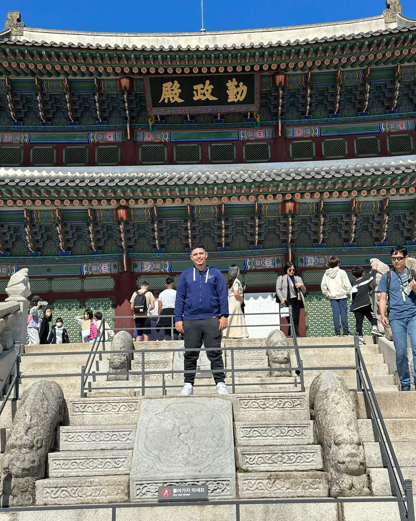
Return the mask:
[[70, 425], [136, 425], [140, 398], [103, 396], [70, 400]]

